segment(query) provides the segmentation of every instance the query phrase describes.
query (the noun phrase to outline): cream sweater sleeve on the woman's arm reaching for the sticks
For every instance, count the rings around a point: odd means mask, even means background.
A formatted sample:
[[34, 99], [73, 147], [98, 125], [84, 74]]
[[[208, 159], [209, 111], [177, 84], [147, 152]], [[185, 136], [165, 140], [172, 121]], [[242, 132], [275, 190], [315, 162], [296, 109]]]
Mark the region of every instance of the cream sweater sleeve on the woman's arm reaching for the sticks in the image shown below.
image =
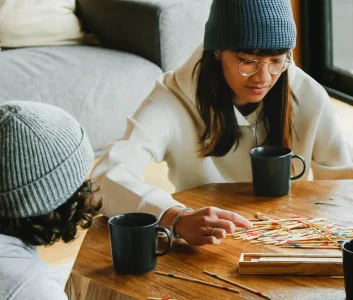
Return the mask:
[[164, 160], [171, 137], [166, 115], [149, 100], [127, 118], [124, 137], [108, 146], [91, 174], [104, 197], [106, 216], [145, 212], [161, 217], [173, 206], [183, 207], [163, 189], [144, 182], [145, 169], [152, 158], [156, 162]]

